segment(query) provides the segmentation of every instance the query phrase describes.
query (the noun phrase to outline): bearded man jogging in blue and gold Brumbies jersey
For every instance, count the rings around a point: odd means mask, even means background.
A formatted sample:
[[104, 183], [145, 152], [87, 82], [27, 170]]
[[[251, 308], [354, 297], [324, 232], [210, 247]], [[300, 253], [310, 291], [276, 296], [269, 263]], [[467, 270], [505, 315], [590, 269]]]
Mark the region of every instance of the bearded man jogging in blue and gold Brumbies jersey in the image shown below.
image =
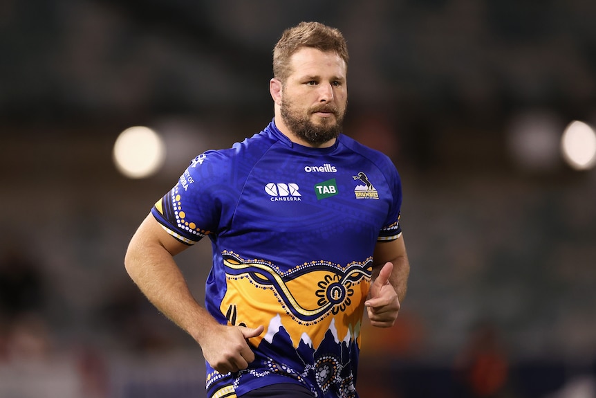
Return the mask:
[[[197, 156], [131, 239], [127, 271], [201, 345], [209, 397], [357, 397], [364, 307], [373, 326], [398, 316], [409, 273], [400, 177], [341, 134], [347, 62], [335, 28], [284, 31], [272, 122]], [[205, 235], [201, 307], [173, 257]]]

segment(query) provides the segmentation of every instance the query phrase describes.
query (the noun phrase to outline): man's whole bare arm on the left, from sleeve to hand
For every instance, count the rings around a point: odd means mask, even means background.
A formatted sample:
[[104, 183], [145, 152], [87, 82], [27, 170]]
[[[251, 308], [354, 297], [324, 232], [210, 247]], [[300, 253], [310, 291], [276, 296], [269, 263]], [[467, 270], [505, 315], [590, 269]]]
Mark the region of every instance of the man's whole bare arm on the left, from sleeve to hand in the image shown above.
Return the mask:
[[148, 215], [129, 243], [124, 266], [149, 301], [201, 345], [205, 360], [215, 370], [247, 368], [254, 353], [246, 339], [261, 334], [263, 327], [221, 325], [196, 302], [174, 260], [185, 248]]

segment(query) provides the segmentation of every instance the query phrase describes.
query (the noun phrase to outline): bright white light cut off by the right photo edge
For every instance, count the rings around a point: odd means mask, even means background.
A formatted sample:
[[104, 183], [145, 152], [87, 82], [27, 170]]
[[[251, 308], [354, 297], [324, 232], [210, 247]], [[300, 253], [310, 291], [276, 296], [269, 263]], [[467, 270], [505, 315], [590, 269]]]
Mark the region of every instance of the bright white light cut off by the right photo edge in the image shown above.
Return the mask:
[[596, 164], [596, 132], [586, 123], [570, 123], [561, 137], [561, 152], [575, 170], [588, 170]]

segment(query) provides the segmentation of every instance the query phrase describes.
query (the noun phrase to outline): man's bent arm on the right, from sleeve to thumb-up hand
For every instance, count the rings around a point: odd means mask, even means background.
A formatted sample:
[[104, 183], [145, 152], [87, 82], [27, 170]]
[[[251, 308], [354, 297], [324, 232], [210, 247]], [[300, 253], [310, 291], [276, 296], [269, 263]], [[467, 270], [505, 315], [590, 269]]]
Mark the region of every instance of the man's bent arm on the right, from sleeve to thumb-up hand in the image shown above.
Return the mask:
[[373, 253], [373, 283], [365, 305], [373, 326], [391, 327], [406, 296], [410, 264], [403, 235], [378, 242]]

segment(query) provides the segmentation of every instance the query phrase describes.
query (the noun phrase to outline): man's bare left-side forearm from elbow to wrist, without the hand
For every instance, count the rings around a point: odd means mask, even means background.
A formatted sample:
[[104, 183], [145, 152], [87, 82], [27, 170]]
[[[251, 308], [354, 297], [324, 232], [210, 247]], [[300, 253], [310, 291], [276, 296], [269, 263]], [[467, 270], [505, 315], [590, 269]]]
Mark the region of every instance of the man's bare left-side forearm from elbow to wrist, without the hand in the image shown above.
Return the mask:
[[198, 343], [217, 325], [196, 302], [174, 257], [160, 244], [133, 237], [124, 259], [132, 280], [155, 307]]

